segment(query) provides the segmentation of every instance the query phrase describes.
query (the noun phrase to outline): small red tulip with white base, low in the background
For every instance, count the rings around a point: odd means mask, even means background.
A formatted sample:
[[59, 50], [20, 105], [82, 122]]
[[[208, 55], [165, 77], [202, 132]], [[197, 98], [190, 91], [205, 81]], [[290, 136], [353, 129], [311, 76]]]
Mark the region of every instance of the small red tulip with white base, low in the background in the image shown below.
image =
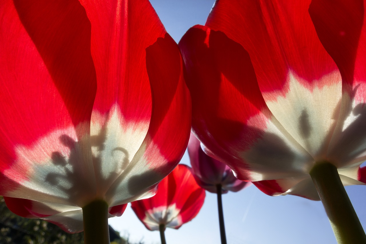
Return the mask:
[[165, 241], [165, 228], [179, 229], [198, 214], [205, 200], [191, 168], [178, 166], [158, 185], [155, 196], [131, 203], [132, 210], [148, 230], [159, 230], [161, 243]]

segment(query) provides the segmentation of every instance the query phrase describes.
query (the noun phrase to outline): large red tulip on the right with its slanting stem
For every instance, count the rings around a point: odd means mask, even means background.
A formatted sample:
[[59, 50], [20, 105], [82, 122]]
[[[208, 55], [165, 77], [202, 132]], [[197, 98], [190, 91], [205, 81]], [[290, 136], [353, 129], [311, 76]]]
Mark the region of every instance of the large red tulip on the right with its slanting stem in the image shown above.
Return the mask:
[[240, 180], [320, 198], [339, 242], [366, 243], [343, 188], [366, 159], [364, 4], [310, 2], [220, 0], [188, 30], [193, 132]]

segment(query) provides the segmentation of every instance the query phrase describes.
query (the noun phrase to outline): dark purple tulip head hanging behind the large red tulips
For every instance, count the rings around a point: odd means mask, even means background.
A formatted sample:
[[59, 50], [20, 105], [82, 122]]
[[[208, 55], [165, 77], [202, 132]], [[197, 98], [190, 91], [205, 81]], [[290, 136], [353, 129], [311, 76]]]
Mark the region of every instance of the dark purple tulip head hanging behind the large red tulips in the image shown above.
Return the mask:
[[193, 133], [188, 142], [188, 154], [195, 179], [206, 191], [217, 193], [217, 185], [220, 185], [221, 193], [237, 192], [251, 184], [238, 180], [229, 166], [206, 155]]

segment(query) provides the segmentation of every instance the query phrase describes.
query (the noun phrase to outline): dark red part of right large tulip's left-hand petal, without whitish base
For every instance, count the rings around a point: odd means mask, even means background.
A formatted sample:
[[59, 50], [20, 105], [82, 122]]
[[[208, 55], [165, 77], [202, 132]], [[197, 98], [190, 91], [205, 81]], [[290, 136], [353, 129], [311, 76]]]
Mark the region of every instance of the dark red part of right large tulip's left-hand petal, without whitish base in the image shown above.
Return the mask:
[[266, 119], [270, 112], [248, 53], [224, 33], [205, 26], [189, 29], [179, 47], [186, 64], [195, 134], [242, 180], [250, 179], [246, 165], [238, 158], [261, 136], [266, 121], [255, 121], [255, 126], [246, 123], [258, 114]]

